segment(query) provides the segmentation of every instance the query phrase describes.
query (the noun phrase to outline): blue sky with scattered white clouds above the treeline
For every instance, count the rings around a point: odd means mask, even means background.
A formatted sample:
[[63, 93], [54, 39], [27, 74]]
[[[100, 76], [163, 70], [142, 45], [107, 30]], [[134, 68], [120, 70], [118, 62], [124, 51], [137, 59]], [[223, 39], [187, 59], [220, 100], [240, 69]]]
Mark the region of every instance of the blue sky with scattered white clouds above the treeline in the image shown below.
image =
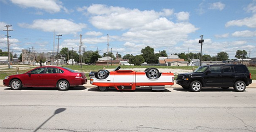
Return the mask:
[[[146, 46], [155, 52], [203, 54], [246, 50], [256, 57], [256, 1], [185, 0], [0, 0], [0, 49], [7, 51], [6, 25], [11, 52], [33, 47], [35, 52], [72, 47], [78, 51], [80, 34], [85, 51], [121, 55], [141, 53]], [[55, 42], [54, 42], [55, 41]], [[54, 47], [55, 46], [55, 47]], [[251, 52], [250, 52], [251, 51]], [[251, 54], [250, 54], [251, 53]]]

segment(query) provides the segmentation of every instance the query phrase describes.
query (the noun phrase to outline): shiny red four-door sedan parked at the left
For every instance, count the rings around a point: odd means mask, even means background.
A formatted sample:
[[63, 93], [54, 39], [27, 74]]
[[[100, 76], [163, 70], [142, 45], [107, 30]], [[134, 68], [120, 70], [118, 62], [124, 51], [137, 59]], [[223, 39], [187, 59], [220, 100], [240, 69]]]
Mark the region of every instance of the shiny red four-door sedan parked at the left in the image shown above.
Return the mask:
[[59, 66], [37, 67], [24, 74], [7, 76], [3, 80], [3, 85], [10, 86], [12, 90], [20, 90], [22, 87], [58, 87], [59, 90], [68, 90], [69, 86], [86, 83], [85, 73]]

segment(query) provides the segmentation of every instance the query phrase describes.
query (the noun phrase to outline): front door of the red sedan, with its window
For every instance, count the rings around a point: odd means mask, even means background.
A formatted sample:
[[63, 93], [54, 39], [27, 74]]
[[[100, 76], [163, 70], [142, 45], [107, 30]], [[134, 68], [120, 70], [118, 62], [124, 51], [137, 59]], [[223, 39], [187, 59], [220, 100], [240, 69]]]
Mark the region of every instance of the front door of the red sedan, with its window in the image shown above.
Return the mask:
[[30, 73], [25, 74], [23, 79], [24, 86], [43, 86], [44, 85], [44, 71], [45, 67], [36, 68], [32, 70]]

